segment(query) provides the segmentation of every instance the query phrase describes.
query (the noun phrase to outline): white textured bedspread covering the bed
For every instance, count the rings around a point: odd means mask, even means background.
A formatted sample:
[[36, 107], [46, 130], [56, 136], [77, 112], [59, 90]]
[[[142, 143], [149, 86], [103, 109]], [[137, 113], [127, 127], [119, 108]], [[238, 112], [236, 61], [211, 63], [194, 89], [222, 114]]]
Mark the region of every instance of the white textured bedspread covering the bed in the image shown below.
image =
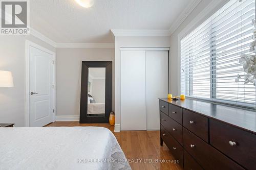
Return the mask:
[[1, 170], [131, 169], [106, 128], [0, 128], [0, 137]]

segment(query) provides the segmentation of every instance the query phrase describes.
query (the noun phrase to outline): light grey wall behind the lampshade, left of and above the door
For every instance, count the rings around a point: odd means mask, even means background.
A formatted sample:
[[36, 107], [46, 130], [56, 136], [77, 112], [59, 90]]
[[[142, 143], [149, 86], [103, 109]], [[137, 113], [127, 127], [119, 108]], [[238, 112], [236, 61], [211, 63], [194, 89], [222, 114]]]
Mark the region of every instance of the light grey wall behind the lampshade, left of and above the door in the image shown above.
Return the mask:
[[0, 70], [12, 71], [14, 87], [0, 88], [0, 122], [25, 126], [25, 41], [55, 52], [55, 48], [34, 36], [0, 36]]

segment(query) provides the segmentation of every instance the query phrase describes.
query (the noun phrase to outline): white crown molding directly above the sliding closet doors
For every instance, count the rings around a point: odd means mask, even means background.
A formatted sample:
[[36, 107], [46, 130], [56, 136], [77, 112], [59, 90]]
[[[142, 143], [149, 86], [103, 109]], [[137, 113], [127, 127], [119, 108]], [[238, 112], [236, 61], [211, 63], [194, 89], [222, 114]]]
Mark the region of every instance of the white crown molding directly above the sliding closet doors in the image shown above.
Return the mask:
[[111, 29], [114, 36], [170, 36], [169, 30], [121, 30]]

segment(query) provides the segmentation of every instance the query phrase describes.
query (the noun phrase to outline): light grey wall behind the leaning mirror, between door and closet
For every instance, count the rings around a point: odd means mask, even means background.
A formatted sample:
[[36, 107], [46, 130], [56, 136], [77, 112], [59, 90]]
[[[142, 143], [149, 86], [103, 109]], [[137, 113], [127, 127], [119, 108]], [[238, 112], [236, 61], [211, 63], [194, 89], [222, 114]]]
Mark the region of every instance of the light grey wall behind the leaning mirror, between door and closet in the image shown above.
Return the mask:
[[[80, 114], [82, 61], [113, 61], [112, 110], [115, 108], [114, 48], [57, 48], [56, 49], [56, 115]], [[93, 87], [94, 88], [94, 87]]]

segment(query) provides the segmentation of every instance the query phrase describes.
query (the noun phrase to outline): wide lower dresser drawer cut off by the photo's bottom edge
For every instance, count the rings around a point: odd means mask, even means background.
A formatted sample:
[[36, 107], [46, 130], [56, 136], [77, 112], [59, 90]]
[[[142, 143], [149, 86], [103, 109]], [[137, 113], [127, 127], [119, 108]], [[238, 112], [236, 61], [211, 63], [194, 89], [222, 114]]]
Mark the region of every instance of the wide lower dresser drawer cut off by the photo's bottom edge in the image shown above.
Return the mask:
[[244, 169], [185, 128], [183, 128], [183, 145], [204, 169]]

